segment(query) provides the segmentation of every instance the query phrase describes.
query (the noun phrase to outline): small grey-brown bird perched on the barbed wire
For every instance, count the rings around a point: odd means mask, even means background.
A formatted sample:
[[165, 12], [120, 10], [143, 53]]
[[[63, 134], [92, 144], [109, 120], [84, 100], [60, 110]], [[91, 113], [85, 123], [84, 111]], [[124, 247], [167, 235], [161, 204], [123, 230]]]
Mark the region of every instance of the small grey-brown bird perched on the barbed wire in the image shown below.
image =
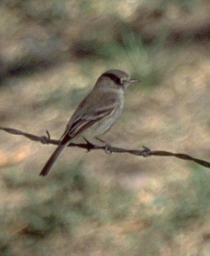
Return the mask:
[[[139, 82], [119, 69], [111, 69], [101, 74], [92, 91], [80, 103], [66, 130], [60, 138], [60, 144], [53, 152], [40, 176], [46, 176], [60, 153], [70, 143], [78, 139], [92, 142], [104, 142], [99, 136], [106, 133], [122, 113], [124, 94], [130, 83]], [[105, 143], [105, 142], [104, 142]]]

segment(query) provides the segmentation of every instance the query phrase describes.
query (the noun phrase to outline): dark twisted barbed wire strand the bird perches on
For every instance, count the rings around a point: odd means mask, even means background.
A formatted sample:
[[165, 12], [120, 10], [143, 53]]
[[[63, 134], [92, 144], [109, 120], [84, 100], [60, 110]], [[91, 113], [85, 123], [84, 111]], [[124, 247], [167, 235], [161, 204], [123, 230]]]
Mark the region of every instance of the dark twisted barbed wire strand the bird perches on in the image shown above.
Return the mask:
[[[7, 127], [2, 127], [0, 126], [0, 130], [6, 131], [8, 133], [11, 134], [16, 134], [16, 135], [23, 135], [31, 140], [34, 141], [40, 141], [43, 144], [54, 144], [54, 145], [59, 145], [60, 144], [60, 140], [55, 140], [55, 139], [51, 139], [50, 138], [50, 133], [48, 132], [48, 130], [46, 131], [47, 136], [36, 136], [30, 133], [26, 133], [17, 129], [12, 129], [12, 128], [7, 128]], [[92, 144], [90, 141], [86, 140], [86, 143], [82, 143], [82, 144], [74, 144], [74, 143], [70, 143], [69, 144], [70, 147], [81, 147], [81, 148], [86, 148], [88, 151], [90, 150], [96, 150], [96, 149], [101, 149], [104, 150], [105, 152], [116, 152], [116, 153], [129, 153], [129, 154], [134, 154], [134, 155], [141, 155], [144, 157], [147, 156], [174, 156], [177, 158], [181, 158], [184, 160], [189, 160], [189, 161], [194, 161], [200, 165], [203, 165], [207, 168], [210, 168], [210, 162], [198, 159], [198, 158], [194, 158], [190, 155], [187, 154], [182, 154], [182, 153], [172, 153], [172, 152], [168, 152], [168, 151], [162, 151], [162, 150], [151, 150], [148, 147], [142, 146], [143, 150], [138, 150], [138, 149], [125, 149], [125, 148], [121, 148], [121, 147], [112, 147], [110, 145], [105, 145], [105, 146], [98, 146], [98, 145], [94, 145]]]

